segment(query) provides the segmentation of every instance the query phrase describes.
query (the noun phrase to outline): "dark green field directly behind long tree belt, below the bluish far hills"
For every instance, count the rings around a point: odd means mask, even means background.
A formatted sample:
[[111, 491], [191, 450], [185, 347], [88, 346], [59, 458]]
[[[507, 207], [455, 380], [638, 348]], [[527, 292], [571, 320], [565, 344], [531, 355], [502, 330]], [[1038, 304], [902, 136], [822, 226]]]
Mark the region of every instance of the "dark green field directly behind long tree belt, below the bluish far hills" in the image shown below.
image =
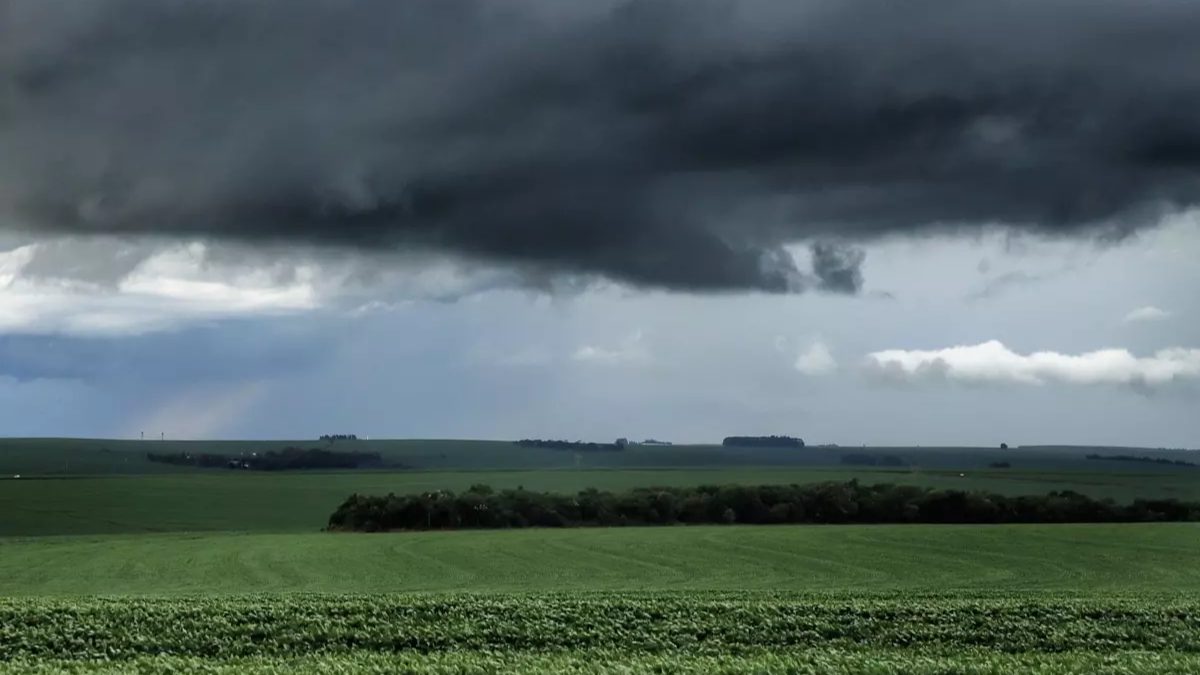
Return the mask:
[[578, 492], [650, 485], [790, 484], [822, 480], [900, 483], [1008, 495], [1076, 490], [1122, 502], [1200, 500], [1200, 472], [1034, 472], [977, 470], [728, 467], [686, 470], [408, 471], [251, 473], [200, 471], [144, 476], [0, 479], [0, 536], [121, 532], [316, 532], [352, 494], [493, 488]]

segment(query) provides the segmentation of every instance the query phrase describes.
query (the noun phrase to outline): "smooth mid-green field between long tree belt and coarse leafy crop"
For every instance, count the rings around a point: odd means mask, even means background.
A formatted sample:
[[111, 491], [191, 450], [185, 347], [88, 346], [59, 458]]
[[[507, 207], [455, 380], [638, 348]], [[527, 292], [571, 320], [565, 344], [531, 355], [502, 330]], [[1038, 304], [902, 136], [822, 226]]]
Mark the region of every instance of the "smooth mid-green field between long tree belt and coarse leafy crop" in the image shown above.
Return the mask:
[[694, 526], [10, 538], [0, 595], [1200, 591], [1200, 525]]

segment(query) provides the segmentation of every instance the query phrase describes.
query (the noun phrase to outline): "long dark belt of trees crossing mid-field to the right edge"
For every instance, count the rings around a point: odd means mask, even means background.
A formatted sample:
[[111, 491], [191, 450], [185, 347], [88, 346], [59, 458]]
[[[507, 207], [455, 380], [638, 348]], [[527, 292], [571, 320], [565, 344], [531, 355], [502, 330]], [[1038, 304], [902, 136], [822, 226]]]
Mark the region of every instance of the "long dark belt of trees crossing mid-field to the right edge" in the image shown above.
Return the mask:
[[1072, 491], [1008, 497], [912, 485], [726, 485], [594, 489], [577, 495], [493, 491], [474, 485], [385, 497], [352, 495], [330, 530], [457, 530], [679, 524], [842, 522], [1142, 522], [1200, 520], [1200, 503], [1136, 500], [1117, 504]]

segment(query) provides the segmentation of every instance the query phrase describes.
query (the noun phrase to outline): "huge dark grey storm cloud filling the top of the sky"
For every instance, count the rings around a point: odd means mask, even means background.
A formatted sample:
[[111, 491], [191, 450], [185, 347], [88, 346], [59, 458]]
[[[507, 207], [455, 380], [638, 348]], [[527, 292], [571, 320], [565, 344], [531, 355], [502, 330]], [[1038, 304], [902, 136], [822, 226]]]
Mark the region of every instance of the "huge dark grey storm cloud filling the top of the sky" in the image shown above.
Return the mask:
[[1200, 197], [1200, 4], [0, 0], [0, 217], [859, 286], [853, 249]]

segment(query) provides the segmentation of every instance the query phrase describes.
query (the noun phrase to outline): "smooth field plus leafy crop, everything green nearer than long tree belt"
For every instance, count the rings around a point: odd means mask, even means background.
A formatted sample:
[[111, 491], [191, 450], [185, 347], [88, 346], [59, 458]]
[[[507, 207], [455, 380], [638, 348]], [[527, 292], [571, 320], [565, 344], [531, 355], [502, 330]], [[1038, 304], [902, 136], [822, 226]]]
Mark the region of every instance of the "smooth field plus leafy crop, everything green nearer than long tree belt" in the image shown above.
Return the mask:
[[1196, 673], [1198, 533], [1138, 524], [8, 538], [0, 674]]

